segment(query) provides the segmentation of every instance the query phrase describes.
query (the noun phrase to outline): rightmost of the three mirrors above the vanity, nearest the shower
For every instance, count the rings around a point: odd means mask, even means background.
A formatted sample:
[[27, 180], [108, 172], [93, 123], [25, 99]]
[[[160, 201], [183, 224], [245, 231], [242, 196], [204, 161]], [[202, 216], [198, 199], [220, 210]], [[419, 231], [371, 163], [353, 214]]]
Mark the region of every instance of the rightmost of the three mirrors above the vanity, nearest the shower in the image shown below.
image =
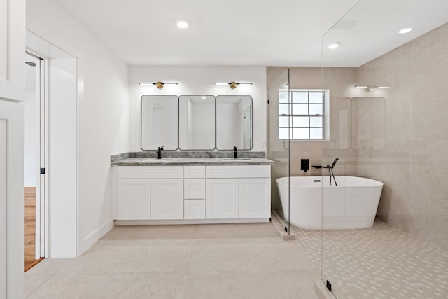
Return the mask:
[[216, 148], [218, 150], [252, 148], [252, 97], [218, 95], [216, 97]]

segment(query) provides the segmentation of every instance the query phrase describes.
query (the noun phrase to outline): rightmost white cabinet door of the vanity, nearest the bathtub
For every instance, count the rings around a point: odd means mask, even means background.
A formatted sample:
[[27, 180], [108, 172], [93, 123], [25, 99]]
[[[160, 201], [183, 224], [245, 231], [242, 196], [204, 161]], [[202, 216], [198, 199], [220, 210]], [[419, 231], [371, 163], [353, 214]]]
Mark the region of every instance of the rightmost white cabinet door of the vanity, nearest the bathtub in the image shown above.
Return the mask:
[[271, 180], [239, 179], [239, 218], [271, 216]]

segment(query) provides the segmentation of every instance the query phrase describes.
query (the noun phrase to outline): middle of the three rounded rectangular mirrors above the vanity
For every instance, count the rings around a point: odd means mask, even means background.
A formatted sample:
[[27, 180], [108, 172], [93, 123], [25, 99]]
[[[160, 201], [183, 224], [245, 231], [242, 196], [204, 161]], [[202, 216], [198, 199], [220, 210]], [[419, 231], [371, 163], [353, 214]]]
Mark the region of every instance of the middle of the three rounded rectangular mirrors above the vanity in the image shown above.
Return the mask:
[[179, 97], [179, 148], [213, 150], [215, 148], [215, 97], [181, 95]]

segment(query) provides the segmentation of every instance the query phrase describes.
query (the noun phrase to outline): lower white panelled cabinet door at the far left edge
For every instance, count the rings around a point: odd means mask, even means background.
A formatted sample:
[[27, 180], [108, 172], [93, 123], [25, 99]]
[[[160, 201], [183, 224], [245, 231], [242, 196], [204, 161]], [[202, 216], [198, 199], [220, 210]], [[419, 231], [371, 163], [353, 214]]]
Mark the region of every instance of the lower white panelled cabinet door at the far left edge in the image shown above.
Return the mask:
[[24, 109], [0, 99], [0, 298], [23, 298]]

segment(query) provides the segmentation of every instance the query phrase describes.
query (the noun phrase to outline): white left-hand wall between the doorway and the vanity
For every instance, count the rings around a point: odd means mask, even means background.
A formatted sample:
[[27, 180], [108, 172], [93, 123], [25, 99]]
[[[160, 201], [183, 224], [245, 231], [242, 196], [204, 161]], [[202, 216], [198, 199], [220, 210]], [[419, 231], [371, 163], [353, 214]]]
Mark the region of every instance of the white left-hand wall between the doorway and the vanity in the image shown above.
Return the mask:
[[79, 256], [113, 227], [110, 155], [127, 151], [128, 67], [52, 0], [27, 1], [27, 29], [77, 61], [78, 227], [61, 229], [76, 230]]

